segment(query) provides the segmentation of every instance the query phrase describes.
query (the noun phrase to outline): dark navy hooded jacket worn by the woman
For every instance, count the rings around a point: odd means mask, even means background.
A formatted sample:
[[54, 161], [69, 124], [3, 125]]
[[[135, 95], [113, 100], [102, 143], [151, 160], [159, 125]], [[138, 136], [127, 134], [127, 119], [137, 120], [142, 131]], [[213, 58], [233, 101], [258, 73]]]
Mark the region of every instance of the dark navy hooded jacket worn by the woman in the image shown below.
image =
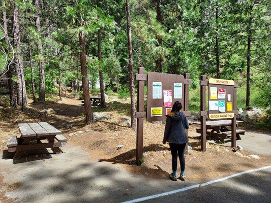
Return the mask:
[[183, 144], [188, 143], [185, 129], [189, 128], [187, 117], [183, 112], [167, 115], [164, 142]]

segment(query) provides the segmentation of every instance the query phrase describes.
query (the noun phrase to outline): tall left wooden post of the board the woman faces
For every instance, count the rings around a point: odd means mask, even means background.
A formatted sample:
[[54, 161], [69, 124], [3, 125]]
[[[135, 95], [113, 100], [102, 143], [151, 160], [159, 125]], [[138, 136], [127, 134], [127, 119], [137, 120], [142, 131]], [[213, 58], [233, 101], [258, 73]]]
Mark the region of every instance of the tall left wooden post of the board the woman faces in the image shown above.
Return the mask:
[[146, 80], [146, 75], [144, 75], [144, 67], [138, 68], [137, 74], [137, 112], [135, 117], [137, 118], [137, 128], [136, 128], [136, 164], [140, 164], [140, 160], [143, 158], [143, 119], [146, 117], [146, 112], [144, 112], [144, 80]]

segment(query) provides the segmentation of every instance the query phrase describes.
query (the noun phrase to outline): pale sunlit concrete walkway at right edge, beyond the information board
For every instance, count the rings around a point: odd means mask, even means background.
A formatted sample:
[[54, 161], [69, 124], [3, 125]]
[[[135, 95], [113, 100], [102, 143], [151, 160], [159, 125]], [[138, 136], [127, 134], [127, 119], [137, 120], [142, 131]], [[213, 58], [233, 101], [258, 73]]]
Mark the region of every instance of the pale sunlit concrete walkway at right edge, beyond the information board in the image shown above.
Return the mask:
[[[271, 133], [246, 131], [240, 137], [242, 140], [237, 140], [236, 145], [253, 153], [271, 156]], [[225, 146], [231, 146], [231, 142], [227, 142]]]

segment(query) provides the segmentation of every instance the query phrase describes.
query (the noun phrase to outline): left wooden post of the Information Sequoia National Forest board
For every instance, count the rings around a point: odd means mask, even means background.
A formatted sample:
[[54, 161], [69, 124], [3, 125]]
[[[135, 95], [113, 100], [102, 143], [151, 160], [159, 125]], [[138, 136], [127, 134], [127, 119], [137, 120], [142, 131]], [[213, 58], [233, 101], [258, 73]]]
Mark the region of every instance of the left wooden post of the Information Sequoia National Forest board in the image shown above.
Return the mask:
[[200, 76], [200, 148], [206, 151], [206, 76]]

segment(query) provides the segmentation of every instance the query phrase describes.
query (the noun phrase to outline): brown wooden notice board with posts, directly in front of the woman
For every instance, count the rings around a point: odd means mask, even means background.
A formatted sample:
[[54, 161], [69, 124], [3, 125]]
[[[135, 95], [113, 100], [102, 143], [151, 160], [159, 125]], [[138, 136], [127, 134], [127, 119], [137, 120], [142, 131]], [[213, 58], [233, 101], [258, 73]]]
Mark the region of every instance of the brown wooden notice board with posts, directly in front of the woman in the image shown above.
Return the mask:
[[[152, 94], [152, 86], [149, 84], [152, 82], [162, 82], [162, 87], [165, 87], [164, 90], [172, 90], [174, 82], [182, 83], [182, 98], [174, 99], [172, 98], [172, 103], [176, 100], [179, 100], [183, 105], [183, 112], [186, 116], [190, 116], [191, 113], [188, 111], [189, 105], [189, 84], [192, 81], [189, 79], [189, 73], [185, 73], [184, 75], [176, 75], [176, 74], [165, 74], [165, 73], [156, 73], [149, 72], [148, 75], [144, 74], [144, 67], [138, 68], [138, 74], [136, 75], [137, 83], [137, 112], [135, 112], [135, 117], [137, 118], [137, 131], [136, 131], [136, 164], [140, 164], [140, 160], [143, 158], [143, 119], [147, 118], [147, 121], [161, 121], [166, 120], [166, 109], [163, 108], [163, 115], [159, 117], [151, 117], [150, 116], [150, 108], [151, 107], [163, 107], [163, 97], [162, 99], [153, 99], [150, 98]], [[148, 82], [147, 86], [147, 111], [144, 111], [144, 81]], [[186, 130], [188, 134], [188, 130]], [[187, 146], [186, 146], [187, 153]]]

